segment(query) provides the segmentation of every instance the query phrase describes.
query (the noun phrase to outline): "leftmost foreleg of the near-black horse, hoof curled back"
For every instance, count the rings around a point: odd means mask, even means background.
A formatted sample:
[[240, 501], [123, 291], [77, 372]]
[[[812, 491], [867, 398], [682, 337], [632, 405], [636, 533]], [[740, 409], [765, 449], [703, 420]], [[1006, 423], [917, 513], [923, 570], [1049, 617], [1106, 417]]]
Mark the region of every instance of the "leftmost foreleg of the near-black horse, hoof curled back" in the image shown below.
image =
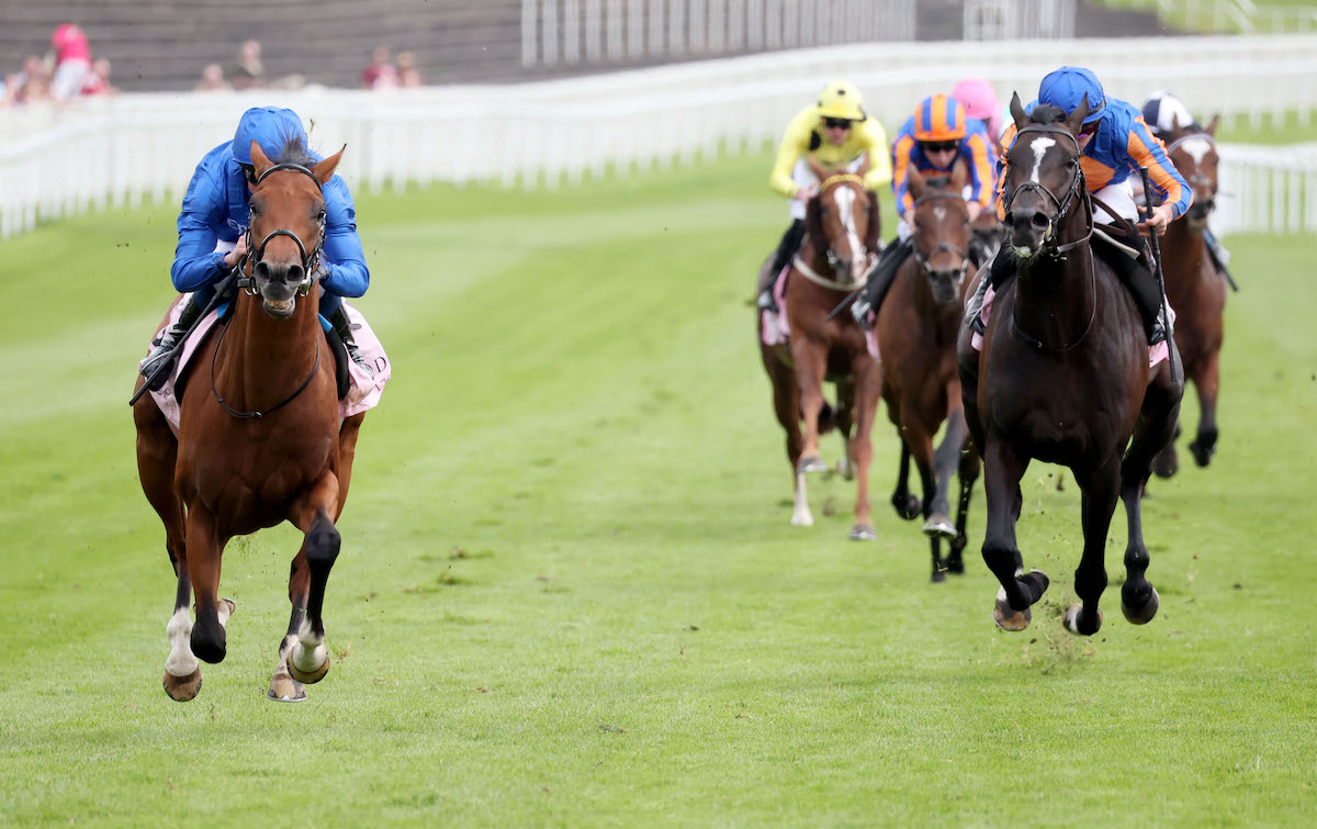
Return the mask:
[[1047, 576], [1040, 571], [1025, 573], [1025, 561], [1015, 546], [1015, 521], [1019, 518], [1019, 478], [1029, 468], [1029, 459], [1018, 456], [1005, 442], [986, 440], [984, 451], [984, 488], [988, 490], [988, 527], [984, 534], [984, 563], [997, 576], [1001, 589], [993, 605], [993, 621], [1002, 630], [1025, 630], [1033, 619], [1030, 606], [1043, 597]]

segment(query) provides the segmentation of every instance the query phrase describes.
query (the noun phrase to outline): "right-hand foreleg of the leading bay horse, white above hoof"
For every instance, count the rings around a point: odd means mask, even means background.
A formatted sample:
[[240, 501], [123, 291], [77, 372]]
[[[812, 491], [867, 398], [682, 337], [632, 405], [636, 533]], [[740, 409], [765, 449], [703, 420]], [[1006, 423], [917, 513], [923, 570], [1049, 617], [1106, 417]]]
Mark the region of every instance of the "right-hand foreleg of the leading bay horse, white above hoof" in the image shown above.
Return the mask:
[[342, 536], [329, 518], [337, 505], [338, 478], [333, 473], [325, 473], [304, 498], [298, 500], [290, 515], [292, 523], [306, 532], [303, 548], [311, 584], [307, 594], [307, 617], [298, 629], [296, 644], [288, 652], [288, 672], [292, 679], [307, 684], [320, 681], [329, 671], [321, 610], [329, 571], [338, 557], [338, 547], [342, 543]]

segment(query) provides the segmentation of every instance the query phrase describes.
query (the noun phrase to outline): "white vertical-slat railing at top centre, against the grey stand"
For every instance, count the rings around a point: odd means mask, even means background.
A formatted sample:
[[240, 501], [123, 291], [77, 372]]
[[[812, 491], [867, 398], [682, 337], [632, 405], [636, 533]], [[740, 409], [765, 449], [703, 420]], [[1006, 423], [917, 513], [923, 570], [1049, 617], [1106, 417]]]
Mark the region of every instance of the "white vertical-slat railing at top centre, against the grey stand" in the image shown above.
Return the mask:
[[522, 0], [522, 66], [914, 40], [914, 0]]

